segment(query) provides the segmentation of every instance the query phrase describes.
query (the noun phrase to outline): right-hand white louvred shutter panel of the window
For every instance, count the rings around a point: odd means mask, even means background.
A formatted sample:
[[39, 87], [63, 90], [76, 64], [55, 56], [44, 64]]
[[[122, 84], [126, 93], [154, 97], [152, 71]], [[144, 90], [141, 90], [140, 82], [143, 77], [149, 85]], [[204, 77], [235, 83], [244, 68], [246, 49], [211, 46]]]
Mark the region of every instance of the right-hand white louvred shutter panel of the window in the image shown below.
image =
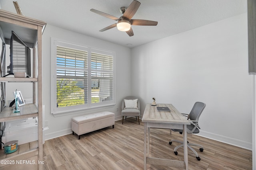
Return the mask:
[[[113, 100], [113, 56], [91, 53], [91, 98], [92, 103]], [[97, 93], [94, 89], [98, 88]], [[95, 100], [98, 99], [98, 100]]]

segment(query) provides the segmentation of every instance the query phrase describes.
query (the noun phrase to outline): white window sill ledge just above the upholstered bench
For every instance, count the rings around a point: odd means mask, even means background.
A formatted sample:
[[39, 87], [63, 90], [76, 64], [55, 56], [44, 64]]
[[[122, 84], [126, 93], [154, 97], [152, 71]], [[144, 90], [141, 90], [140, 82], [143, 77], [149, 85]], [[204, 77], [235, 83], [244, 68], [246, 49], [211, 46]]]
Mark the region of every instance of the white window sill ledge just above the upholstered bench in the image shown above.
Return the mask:
[[60, 117], [60, 116], [66, 116], [66, 115], [75, 115], [75, 114], [78, 114], [78, 113], [84, 113], [84, 112], [88, 112], [88, 111], [96, 111], [96, 110], [111, 108], [115, 105], [116, 104], [108, 104], [108, 105], [104, 105], [104, 106], [88, 107], [88, 108], [83, 108], [83, 109], [79, 109], [79, 110], [69, 110], [69, 111], [55, 112], [55, 113], [52, 113], [52, 114], [53, 114], [54, 117]]

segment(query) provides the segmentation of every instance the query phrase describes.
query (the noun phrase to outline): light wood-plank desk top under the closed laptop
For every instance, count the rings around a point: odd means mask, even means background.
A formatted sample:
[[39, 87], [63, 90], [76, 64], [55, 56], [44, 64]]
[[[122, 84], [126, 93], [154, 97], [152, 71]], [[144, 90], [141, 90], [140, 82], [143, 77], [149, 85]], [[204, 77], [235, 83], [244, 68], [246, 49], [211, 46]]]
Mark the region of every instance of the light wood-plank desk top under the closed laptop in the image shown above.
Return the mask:
[[[156, 107], [169, 107], [171, 111], [157, 111]], [[189, 121], [172, 104], [147, 104], [142, 121], [151, 123], [172, 123], [190, 125]]]

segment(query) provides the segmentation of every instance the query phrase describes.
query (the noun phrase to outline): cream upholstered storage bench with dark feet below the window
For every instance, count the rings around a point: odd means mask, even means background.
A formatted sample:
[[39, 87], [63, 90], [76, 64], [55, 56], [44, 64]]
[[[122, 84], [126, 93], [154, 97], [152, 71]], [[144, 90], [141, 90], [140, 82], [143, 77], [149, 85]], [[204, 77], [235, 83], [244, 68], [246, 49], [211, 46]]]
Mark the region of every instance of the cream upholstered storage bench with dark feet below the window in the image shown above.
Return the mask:
[[96, 131], [111, 125], [112, 128], [114, 128], [115, 114], [109, 111], [73, 117], [71, 120], [72, 134], [74, 135], [74, 133], [76, 133], [78, 135], [78, 139], [80, 139], [80, 135], [82, 134]]

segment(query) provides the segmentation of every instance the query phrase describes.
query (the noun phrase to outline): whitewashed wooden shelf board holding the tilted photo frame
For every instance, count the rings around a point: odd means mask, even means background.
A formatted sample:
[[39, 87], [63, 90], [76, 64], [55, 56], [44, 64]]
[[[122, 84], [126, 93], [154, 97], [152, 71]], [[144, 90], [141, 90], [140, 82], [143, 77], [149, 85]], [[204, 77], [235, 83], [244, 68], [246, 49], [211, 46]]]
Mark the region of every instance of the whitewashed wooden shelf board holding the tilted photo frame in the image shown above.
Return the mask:
[[38, 109], [35, 104], [25, 104], [20, 106], [20, 112], [18, 113], [13, 113], [14, 108], [15, 107], [6, 106], [0, 113], [0, 122], [38, 116]]

